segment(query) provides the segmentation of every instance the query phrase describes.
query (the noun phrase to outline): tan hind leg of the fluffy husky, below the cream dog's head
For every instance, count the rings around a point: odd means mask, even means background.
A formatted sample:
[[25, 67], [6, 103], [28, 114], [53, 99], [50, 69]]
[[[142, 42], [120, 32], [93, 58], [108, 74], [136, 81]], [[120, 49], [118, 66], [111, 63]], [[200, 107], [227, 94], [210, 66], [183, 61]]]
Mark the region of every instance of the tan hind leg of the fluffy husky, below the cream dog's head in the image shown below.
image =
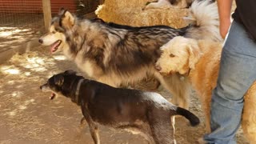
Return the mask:
[[161, 74], [156, 73], [155, 76], [162, 86], [172, 94], [172, 103], [188, 109], [190, 101], [190, 82], [188, 82], [188, 79], [181, 79], [176, 74], [170, 77], [163, 77]]

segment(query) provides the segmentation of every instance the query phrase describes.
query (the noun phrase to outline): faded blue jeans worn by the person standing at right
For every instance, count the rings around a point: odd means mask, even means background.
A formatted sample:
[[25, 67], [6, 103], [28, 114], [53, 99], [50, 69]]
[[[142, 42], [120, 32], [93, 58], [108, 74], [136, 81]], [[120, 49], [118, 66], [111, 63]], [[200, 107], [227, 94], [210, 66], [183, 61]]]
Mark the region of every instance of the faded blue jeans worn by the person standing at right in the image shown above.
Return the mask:
[[205, 142], [234, 144], [240, 126], [243, 96], [256, 79], [256, 43], [244, 27], [232, 22], [224, 43], [218, 82], [211, 99], [211, 133]]

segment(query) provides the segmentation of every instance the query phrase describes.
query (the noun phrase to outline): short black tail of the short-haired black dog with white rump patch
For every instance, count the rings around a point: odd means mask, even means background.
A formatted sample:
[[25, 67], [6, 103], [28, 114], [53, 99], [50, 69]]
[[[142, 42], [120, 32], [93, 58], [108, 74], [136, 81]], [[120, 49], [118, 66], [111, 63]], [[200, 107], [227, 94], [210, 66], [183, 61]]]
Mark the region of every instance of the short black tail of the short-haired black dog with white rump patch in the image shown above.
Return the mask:
[[182, 107], [177, 107], [176, 114], [184, 116], [190, 121], [191, 126], [197, 126], [200, 123], [199, 118], [191, 113], [189, 110], [183, 109]]

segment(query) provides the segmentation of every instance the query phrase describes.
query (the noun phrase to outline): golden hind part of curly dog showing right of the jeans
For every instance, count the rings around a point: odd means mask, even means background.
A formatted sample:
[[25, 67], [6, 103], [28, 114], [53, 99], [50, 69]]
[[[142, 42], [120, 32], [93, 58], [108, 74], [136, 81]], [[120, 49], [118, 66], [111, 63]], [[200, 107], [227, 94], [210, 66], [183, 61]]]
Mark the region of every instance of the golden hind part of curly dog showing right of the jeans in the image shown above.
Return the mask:
[[242, 111], [242, 130], [250, 143], [256, 143], [256, 82], [245, 95]]

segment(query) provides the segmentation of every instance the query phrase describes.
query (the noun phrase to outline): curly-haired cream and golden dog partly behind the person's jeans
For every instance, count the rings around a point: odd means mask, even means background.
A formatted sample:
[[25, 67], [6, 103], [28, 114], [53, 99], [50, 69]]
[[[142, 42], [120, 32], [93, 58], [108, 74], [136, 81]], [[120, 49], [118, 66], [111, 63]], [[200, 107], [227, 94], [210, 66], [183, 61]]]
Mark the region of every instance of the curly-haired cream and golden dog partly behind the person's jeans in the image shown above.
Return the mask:
[[[206, 115], [206, 132], [210, 132], [211, 92], [216, 86], [222, 43], [176, 37], [161, 47], [156, 62], [161, 74], [185, 74], [202, 102]], [[251, 143], [256, 143], [256, 81], [245, 94], [242, 129]]]

